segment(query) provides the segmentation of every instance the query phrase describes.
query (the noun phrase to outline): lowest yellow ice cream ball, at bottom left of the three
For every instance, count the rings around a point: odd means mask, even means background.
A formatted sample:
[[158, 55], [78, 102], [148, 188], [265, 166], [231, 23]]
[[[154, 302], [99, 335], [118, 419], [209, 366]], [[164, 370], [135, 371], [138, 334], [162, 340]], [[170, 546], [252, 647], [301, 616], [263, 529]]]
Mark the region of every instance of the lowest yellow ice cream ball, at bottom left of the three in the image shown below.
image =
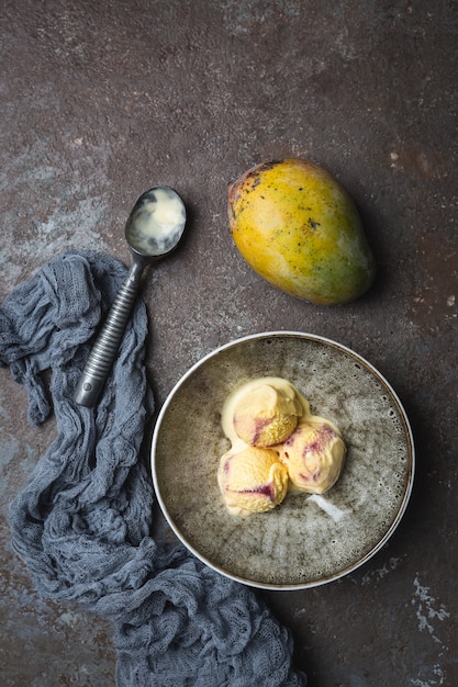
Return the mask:
[[234, 515], [265, 513], [281, 504], [287, 495], [288, 471], [276, 451], [247, 447], [221, 458], [217, 483]]

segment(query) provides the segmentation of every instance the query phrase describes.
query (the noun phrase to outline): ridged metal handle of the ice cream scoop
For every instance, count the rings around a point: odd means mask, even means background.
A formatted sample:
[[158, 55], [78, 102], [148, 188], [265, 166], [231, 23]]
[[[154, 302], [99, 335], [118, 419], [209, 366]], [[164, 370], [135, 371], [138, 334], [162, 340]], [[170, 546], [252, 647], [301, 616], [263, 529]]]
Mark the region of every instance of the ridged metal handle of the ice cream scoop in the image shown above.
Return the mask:
[[74, 401], [78, 405], [90, 408], [96, 405], [99, 398], [131, 316], [144, 267], [144, 264], [134, 262], [116, 293], [79, 379], [74, 395]]

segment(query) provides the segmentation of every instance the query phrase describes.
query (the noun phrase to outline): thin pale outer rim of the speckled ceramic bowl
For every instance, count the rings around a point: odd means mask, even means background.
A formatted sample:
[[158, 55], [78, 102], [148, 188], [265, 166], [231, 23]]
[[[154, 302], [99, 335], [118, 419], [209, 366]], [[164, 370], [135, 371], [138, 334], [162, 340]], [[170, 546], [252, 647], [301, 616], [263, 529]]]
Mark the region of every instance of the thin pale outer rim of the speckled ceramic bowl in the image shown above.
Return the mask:
[[[160, 426], [163, 423], [163, 419], [167, 413], [167, 409], [169, 407], [169, 405], [171, 404], [175, 394], [177, 393], [177, 391], [187, 382], [187, 380], [189, 378], [191, 378], [193, 375], [193, 373], [199, 370], [208, 360], [219, 356], [221, 352], [233, 348], [235, 346], [238, 346], [241, 344], [250, 341], [250, 340], [256, 340], [256, 339], [267, 339], [267, 338], [272, 338], [272, 337], [290, 337], [290, 338], [301, 338], [301, 339], [306, 339], [306, 340], [312, 340], [312, 341], [316, 341], [320, 344], [325, 344], [327, 346], [331, 346], [333, 348], [336, 348], [345, 353], [347, 353], [348, 356], [355, 358], [358, 362], [360, 362], [361, 364], [364, 364], [375, 376], [376, 379], [378, 379], [380, 382], [382, 382], [382, 384], [387, 387], [388, 392], [390, 393], [390, 395], [392, 396], [393, 401], [395, 402], [396, 406], [398, 406], [398, 410], [400, 413], [400, 416], [402, 417], [402, 421], [403, 421], [403, 428], [406, 435], [406, 440], [409, 443], [409, 458], [410, 458], [410, 470], [409, 470], [409, 477], [406, 480], [406, 484], [405, 484], [405, 488], [403, 492], [403, 496], [402, 496], [402, 502], [400, 504], [400, 507], [395, 514], [395, 517], [393, 518], [392, 522], [390, 523], [389, 528], [387, 529], [387, 531], [384, 532], [383, 537], [381, 537], [381, 539], [378, 541], [378, 543], [376, 543], [369, 551], [367, 551], [358, 561], [356, 561], [355, 563], [351, 563], [350, 565], [344, 567], [343, 570], [338, 571], [337, 573], [319, 579], [319, 581], [312, 581], [312, 582], [301, 582], [301, 583], [288, 583], [288, 584], [273, 584], [273, 583], [264, 583], [264, 582], [258, 582], [258, 581], [252, 581], [248, 579], [246, 577], [243, 577], [241, 575], [236, 575], [234, 573], [231, 573], [226, 570], [224, 570], [221, 565], [216, 565], [215, 563], [212, 563], [212, 561], [210, 561], [206, 556], [204, 556], [202, 553], [199, 552], [199, 550], [196, 549], [196, 547], [193, 547], [186, 538], [186, 536], [181, 532], [181, 530], [179, 529], [179, 527], [175, 523], [174, 518], [171, 517], [171, 515], [168, 511], [167, 505], [165, 504], [161, 493], [160, 493], [160, 486], [159, 486], [159, 481], [158, 481], [158, 476], [157, 476], [157, 472], [156, 472], [156, 449], [157, 449], [157, 442], [158, 442], [158, 436], [159, 436], [159, 431], [160, 431]], [[362, 565], [365, 565], [372, 556], [376, 555], [376, 553], [378, 553], [380, 551], [380, 549], [382, 549], [384, 547], [384, 544], [388, 542], [388, 540], [392, 537], [392, 534], [394, 533], [394, 531], [396, 530], [396, 528], [399, 527], [405, 510], [407, 508], [411, 495], [412, 495], [412, 491], [413, 491], [413, 483], [414, 483], [414, 476], [415, 476], [415, 465], [416, 465], [416, 455], [415, 455], [415, 443], [414, 443], [414, 437], [413, 437], [413, 431], [412, 431], [412, 427], [407, 417], [407, 414], [405, 412], [405, 408], [399, 397], [399, 395], [396, 394], [396, 392], [394, 391], [394, 388], [392, 387], [392, 385], [390, 384], [390, 382], [386, 379], [386, 376], [379, 372], [379, 370], [377, 370], [377, 368], [369, 362], [364, 356], [360, 356], [359, 353], [357, 353], [356, 351], [354, 351], [351, 348], [349, 348], [348, 346], [340, 344], [334, 339], [321, 336], [321, 335], [316, 335], [316, 334], [310, 334], [310, 333], [305, 333], [305, 331], [298, 331], [298, 330], [291, 330], [291, 329], [276, 329], [276, 330], [267, 330], [267, 331], [259, 331], [256, 334], [249, 334], [249, 335], [245, 335], [243, 337], [236, 338], [236, 339], [231, 339], [230, 341], [227, 341], [226, 344], [223, 344], [221, 346], [217, 346], [215, 349], [211, 350], [210, 352], [205, 353], [202, 358], [200, 358], [197, 362], [194, 362], [181, 376], [180, 379], [174, 384], [172, 388], [170, 390], [170, 392], [168, 393], [160, 410], [159, 414], [157, 416], [156, 419], [156, 424], [154, 427], [154, 431], [153, 431], [153, 438], [152, 438], [152, 444], [150, 444], [150, 470], [152, 470], [152, 476], [153, 476], [153, 484], [154, 484], [154, 489], [155, 489], [155, 497], [157, 499], [157, 503], [159, 504], [160, 510], [168, 523], [168, 526], [170, 527], [170, 529], [172, 530], [172, 532], [176, 534], [176, 537], [178, 538], [178, 540], [188, 549], [188, 551], [190, 551], [197, 559], [199, 559], [202, 563], [204, 563], [208, 567], [216, 571], [217, 573], [224, 575], [225, 577], [228, 577], [231, 579], [234, 579], [238, 583], [245, 584], [247, 586], [252, 586], [255, 587], [257, 589], [269, 589], [269, 590], [276, 590], [276, 592], [292, 592], [292, 590], [300, 590], [300, 589], [308, 589], [308, 588], [314, 588], [314, 587], [319, 587], [322, 586], [324, 584], [328, 584], [331, 582], [335, 582], [337, 579], [340, 579], [342, 577], [355, 572], [356, 570], [358, 570], [359, 567], [361, 567]]]

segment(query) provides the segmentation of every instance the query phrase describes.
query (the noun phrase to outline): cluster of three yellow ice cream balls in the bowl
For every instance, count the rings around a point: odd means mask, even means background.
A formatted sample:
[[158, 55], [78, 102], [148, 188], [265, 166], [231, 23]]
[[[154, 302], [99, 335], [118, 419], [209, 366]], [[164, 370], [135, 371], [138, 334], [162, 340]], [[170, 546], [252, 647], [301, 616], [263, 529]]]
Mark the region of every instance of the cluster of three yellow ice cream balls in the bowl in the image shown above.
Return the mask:
[[323, 494], [340, 474], [346, 447], [339, 430], [312, 415], [306, 398], [282, 378], [236, 390], [224, 404], [222, 426], [232, 448], [221, 458], [217, 482], [234, 515], [270, 510], [288, 489]]

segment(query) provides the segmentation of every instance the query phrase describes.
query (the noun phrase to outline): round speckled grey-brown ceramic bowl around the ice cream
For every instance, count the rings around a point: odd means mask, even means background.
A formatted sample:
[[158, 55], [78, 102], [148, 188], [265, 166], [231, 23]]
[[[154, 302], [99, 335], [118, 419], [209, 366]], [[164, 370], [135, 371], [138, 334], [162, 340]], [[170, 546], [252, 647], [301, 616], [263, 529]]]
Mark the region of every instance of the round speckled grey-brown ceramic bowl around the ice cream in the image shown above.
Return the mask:
[[[333, 420], [348, 447], [323, 496], [288, 494], [269, 513], [228, 514], [216, 483], [228, 449], [226, 396], [260, 376], [282, 376]], [[387, 380], [350, 349], [310, 334], [273, 331], [232, 341], [194, 364], [171, 391], [152, 448], [157, 498], [177, 537], [204, 563], [247, 585], [303, 589], [366, 563], [399, 525], [412, 489], [414, 444]]]

